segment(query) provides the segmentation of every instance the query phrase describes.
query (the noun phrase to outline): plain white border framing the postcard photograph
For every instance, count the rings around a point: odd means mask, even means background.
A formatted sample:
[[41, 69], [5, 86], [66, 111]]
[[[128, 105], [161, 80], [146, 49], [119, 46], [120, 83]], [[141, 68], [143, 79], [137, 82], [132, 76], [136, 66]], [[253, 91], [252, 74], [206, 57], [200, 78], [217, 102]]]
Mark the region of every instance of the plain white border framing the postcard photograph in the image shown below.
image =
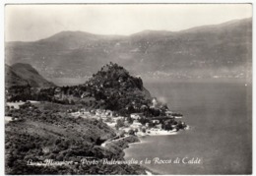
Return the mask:
[[[87, 4], [87, 3], [100, 3], [100, 4], [106, 4], [106, 3], [121, 3], [121, 4], [137, 4], [137, 3], [142, 3], [142, 4], [160, 4], [160, 3], [178, 3], [178, 4], [186, 4], [186, 3], [205, 3], [205, 4], [218, 4], [218, 3], [251, 3], [253, 6], [253, 12], [255, 10], [255, 6], [252, 0], [229, 0], [229, 1], [224, 1], [224, 0], [215, 0], [215, 1], [209, 1], [209, 0], [200, 0], [200, 1], [194, 1], [194, 0], [3, 0], [1, 1], [1, 20], [0, 20], [0, 24], [1, 24], [1, 37], [2, 40], [2, 44], [0, 44], [0, 51], [1, 51], [1, 64], [0, 64], [0, 75], [1, 75], [1, 91], [0, 91], [0, 97], [1, 97], [1, 101], [0, 101], [0, 115], [2, 117], [2, 123], [1, 123], [1, 133], [0, 133], [0, 140], [1, 140], [1, 151], [0, 151], [0, 174], [4, 175], [5, 174], [5, 155], [4, 155], [4, 149], [5, 149], [5, 143], [4, 143], [4, 136], [5, 136], [5, 132], [4, 132], [4, 23], [5, 23], [5, 16], [4, 16], [4, 10], [5, 10], [5, 5], [6, 4], [63, 4], [63, 3], [68, 3], [68, 4], [77, 4], [77, 3], [83, 3], [83, 4]], [[254, 23], [255, 23], [255, 19], [253, 17], [253, 32], [254, 32]], [[253, 43], [255, 41], [254, 38], [254, 34], [253, 34]], [[255, 51], [255, 45], [253, 44], [253, 53]], [[255, 68], [255, 62], [254, 62], [254, 54], [253, 54], [253, 68]], [[254, 72], [253, 72], [254, 73]], [[255, 77], [253, 74], [253, 91], [255, 90], [254, 88], [254, 83], [255, 83]], [[255, 100], [255, 94], [253, 93], [253, 102]], [[253, 103], [253, 109], [256, 109], [255, 103]], [[253, 122], [253, 136], [255, 135], [255, 120], [254, 119], [254, 112], [252, 112], [252, 122]], [[252, 138], [253, 139], [253, 138]], [[255, 173], [255, 140], [253, 140], [253, 174]]]

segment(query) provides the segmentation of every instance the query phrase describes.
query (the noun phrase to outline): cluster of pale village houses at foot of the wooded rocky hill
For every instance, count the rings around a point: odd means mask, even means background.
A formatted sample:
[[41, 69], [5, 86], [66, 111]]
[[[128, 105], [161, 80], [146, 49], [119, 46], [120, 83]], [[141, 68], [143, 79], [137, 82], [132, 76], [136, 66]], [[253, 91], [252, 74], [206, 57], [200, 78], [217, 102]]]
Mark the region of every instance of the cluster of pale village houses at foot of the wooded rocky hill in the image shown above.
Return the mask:
[[[175, 121], [175, 119], [182, 118], [182, 115], [171, 111], [166, 111], [166, 116], [151, 118], [145, 117], [143, 113], [132, 113], [130, 114], [130, 117], [124, 117], [118, 115], [116, 112], [105, 109], [86, 110], [85, 108], [82, 108], [77, 112], [67, 111], [74, 117], [95, 118], [102, 121], [117, 133], [124, 136], [174, 135], [180, 129], [188, 128], [184, 122]], [[168, 128], [164, 125], [165, 122], [168, 122]]]

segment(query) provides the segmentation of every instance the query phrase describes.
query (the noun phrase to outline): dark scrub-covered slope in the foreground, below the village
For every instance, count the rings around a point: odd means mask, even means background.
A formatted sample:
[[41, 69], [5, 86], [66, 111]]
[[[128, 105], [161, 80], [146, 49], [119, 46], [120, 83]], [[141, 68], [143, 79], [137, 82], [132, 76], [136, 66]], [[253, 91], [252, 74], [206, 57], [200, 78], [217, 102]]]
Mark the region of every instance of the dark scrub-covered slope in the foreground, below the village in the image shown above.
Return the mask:
[[[63, 110], [65, 107], [63, 107]], [[56, 110], [23, 107], [8, 112], [22, 119], [6, 124], [6, 174], [139, 174], [138, 166], [80, 162], [85, 156], [123, 160], [121, 147], [100, 147], [115, 133], [95, 119], [73, 118]], [[61, 115], [62, 114], [62, 115]], [[29, 159], [77, 161], [68, 166], [29, 166]]]

